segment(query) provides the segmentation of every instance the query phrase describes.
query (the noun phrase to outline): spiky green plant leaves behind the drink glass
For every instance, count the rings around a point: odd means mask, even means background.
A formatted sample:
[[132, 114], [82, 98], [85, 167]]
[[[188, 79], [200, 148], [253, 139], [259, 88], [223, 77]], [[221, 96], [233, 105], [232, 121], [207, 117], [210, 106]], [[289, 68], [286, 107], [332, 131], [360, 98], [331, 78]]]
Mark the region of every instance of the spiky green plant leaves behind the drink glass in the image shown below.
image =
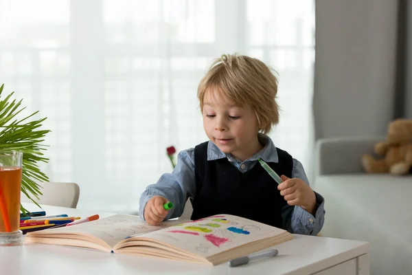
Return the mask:
[[[38, 162], [47, 163], [49, 159], [43, 151], [47, 145], [42, 144], [44, 137], [50, 130], [41, 130], [43, 121], [31, 119], [38, 111], [19, 120], [18, 115], [25, 109], [21, 106], [23, 99], [11, 100], [14, 91], [3, 99], [4, 84], [0, 87], [0, 151], [20, 151], [23, 153], [21, 191], [38, 207], [32, 196], [39, 199], [42, 195], [41, 186], [36, 181], [49, 181], [49, 178], [38, 167]], [[20, 206], [23, 213], [27, 210]]]

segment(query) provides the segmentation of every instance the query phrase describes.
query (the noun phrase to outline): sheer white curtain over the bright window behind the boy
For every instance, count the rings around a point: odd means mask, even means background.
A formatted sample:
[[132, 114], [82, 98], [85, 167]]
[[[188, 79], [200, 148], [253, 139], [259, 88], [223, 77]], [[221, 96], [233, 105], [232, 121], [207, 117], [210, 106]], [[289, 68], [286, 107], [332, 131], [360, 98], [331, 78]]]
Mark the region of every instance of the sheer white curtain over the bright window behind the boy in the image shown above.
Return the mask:
[[172, 170], [165, 148], [206, 140], [196, 88], [212, 58], [247, 54], [279, 78], [277, 146], [310, 173], [314, 3], [0, 0], [0, 83], [51, 129], [51, 181], [78, 208], [136, 212]]

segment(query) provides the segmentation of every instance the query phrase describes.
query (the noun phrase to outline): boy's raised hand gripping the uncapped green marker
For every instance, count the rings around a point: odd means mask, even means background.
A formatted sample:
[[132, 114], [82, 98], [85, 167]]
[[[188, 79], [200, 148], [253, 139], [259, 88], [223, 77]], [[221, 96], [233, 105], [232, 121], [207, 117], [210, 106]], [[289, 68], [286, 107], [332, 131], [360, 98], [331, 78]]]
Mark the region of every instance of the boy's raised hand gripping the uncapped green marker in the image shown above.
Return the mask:
[[288, 202], [290, 206], [301, 206], [307, 212], [314, 215], [316, 210], [316, 196], [312, 188], [305, 181], [294, 177], [289, 179], [285, 175], [281, 177], [283, 179], [282, 184], [277, 186], [280, 190], [280, 195]]

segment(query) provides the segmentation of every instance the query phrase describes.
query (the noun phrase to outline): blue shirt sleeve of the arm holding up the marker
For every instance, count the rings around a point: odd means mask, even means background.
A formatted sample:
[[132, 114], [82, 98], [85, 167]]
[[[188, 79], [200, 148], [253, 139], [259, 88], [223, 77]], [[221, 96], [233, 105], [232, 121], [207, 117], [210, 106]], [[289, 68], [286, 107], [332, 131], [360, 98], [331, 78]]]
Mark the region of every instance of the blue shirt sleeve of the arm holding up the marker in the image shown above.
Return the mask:
[[[302, 179], [309, 184], [304, 166], [302, 166], [301, 162], [297, 159], [293, 159], [292, 177]], [[285, 228], [289, 232], [316, 235], [321, 231], [325, 219], [325, 200], [317, 192], [314, 192], [314, 195], [316, 196], [316, 210], [314, 216], [309, 212], [306, 212], [306, 210], [300, 206], [284, 207], [282, 218], [284, 219]]]

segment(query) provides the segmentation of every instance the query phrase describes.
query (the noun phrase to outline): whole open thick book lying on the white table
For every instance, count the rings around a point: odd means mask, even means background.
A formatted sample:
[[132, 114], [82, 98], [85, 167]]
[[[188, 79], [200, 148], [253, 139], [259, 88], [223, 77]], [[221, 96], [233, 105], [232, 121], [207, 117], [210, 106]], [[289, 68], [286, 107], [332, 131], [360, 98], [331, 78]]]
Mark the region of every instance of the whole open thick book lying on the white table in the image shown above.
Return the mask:
[[196, 221], [164, 221], [159, 226], [149, 225], [137, 216], [116, 214], [25, 236], [27, 242], [206, 265], [218, 265], [290, 239], [293, 234], [286, 230], [229, 214]]

